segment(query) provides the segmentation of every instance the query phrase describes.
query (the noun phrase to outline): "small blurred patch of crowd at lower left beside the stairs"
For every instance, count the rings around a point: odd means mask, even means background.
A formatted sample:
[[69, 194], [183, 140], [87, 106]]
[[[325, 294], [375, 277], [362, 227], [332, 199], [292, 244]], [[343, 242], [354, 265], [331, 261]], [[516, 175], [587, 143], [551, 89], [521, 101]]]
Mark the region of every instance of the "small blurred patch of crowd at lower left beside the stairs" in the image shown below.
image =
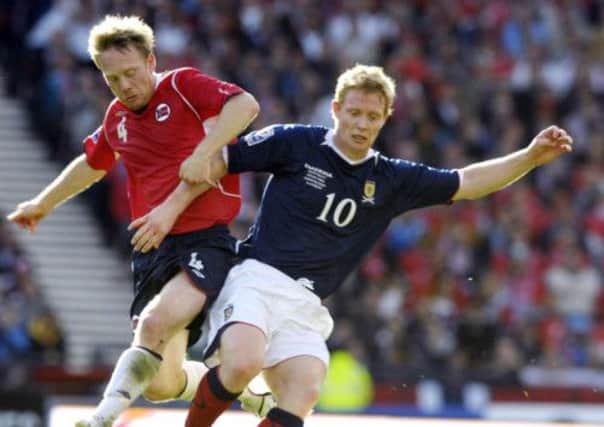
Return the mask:
[[32, 366], [60, 364], [63, 348], [28, 257], [0, 215], [0, 391], [23, 386]]

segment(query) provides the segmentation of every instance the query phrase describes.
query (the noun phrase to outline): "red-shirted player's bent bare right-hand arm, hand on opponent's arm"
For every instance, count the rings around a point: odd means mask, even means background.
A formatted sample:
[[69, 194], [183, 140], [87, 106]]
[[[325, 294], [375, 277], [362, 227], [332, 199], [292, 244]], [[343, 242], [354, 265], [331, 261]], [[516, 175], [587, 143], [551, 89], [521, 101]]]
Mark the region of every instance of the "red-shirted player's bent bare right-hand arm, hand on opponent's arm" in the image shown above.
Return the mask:
[[256, 118], [260, 106], [248, 92], [232, 96], [222, 107], [216, 123], [202, 143], [182, 163], [180, 178], [191, 184], [211, 179], [211, 162], [216, 153], [243, 132]]

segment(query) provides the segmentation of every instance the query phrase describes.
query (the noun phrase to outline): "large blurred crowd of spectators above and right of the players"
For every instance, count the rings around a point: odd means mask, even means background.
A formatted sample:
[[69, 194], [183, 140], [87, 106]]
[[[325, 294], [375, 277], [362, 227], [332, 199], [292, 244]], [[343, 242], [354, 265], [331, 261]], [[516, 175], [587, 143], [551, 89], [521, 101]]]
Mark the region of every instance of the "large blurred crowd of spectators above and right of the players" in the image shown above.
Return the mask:
[[[50, 158], [81, 153], [111, 94], [88, 59], [106, 13], [156, 31], [159, 69], [194, 66], [260, 102], [253, 124], [331, 125], [335, 77], [356, 62], [397, 81], [377, 148], [461, 167], [558, 124], [571, 155], [484, 200], [398, 218], [328, 304], [332, 348], [382, 382], [513, 385], [526, 366], [604, 368], [604, 6], [597, 0], [37, 0], [2, 3], [7, 89]], [[125, 248], [123, 168], [91, 194]], [[243, 177], [234, 225], [264, 177]], [[117, 242], [117, 243], [116, 243]], [[121, 243], [120, 243], [121, 242]]]

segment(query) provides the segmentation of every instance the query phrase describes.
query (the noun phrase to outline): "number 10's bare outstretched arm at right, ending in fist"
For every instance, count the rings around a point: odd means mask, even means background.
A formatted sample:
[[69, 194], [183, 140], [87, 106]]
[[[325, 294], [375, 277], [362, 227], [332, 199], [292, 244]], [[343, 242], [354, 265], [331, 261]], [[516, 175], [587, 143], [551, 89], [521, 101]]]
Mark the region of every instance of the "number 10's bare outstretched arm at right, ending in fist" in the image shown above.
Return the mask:
[[453, 200], [478, 199], [500, 190], [534, 168], [572, 151], [572, 144], [573, 139], [564, 129], [557, 126], [543, 129], [526, 148], [461, 169], [463, 179]]

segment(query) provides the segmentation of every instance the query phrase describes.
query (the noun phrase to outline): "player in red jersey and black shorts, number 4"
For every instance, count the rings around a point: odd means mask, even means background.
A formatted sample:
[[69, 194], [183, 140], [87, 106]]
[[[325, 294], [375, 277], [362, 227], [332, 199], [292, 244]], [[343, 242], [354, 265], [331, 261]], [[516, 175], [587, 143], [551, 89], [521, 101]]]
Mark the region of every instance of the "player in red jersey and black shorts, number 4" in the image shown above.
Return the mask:
[[[85, 153], [9, 219], [33, 231], [118, 158], [128, 172], [133, 218], [158, 206], [180, 178], [207, 179], [204, 159], [242, 132], [259, 106], [236, 85], [193, 68], [156, 73], [153, 45], [152, 29], [138, 17], [107, 16], [91, 30], [90, 56], [115, 99], [85, 139]], [[207, 368], [186, 361], [185, 353], [232, 265], [235, 239], [227, 224], [240, 203], [238, 177], [226, 175], [163, 230], [170, 235], [161, 244], [149, 240], [133, 252], [132, 346], [120, 356], [93, 416], [77, 425], [111, 426], [141, 393], [152, 401], [193, 398]]]

